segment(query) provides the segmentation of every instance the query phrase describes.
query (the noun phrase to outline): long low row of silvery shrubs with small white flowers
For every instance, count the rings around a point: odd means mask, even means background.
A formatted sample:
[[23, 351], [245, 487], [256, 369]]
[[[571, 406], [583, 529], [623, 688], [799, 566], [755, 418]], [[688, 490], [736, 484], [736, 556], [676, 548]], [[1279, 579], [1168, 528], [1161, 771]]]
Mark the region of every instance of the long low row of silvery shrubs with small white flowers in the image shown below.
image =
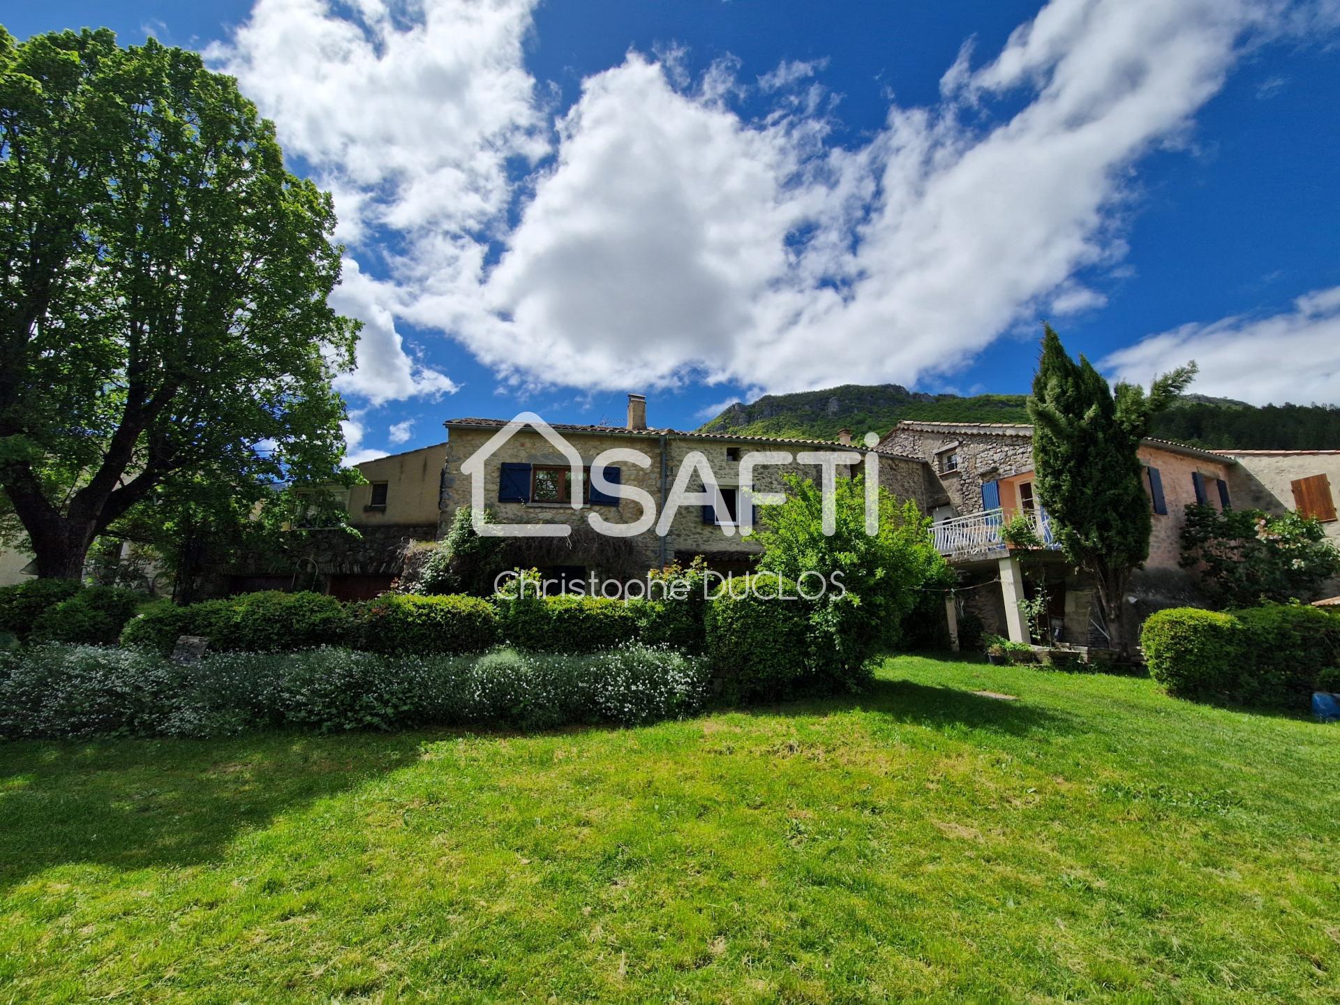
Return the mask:
[[0, 737], [638, 725], [697, 712], [708, 685], [705, 659], [638, 645], [469, 657], [324, 647], [217, 653], [185, 666], [147, 650], [35, 645], [0, 653]]

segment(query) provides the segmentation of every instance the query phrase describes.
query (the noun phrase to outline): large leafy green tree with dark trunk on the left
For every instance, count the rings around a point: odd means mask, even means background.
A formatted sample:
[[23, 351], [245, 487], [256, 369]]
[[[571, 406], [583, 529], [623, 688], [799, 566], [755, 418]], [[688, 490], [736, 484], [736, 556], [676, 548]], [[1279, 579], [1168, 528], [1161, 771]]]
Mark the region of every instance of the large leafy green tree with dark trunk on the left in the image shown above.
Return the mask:
[[331, 198], [197, 54], [0, 28], [0, 486], [40, 576], [173, 478], [338, 476]]

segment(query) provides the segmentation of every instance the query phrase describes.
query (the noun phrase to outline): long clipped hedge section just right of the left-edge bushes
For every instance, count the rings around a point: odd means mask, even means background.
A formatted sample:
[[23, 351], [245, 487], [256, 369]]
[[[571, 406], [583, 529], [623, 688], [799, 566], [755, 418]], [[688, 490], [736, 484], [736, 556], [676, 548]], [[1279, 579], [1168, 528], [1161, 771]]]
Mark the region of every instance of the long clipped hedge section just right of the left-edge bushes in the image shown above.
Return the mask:
[[201, 635], [220, 651], [281, 653], [351, 641], [354, 619], [326, 594], [268, 590], [177, 607], [158, 603], [126, 624], [121, 643], [172, 653], [178, 635]]

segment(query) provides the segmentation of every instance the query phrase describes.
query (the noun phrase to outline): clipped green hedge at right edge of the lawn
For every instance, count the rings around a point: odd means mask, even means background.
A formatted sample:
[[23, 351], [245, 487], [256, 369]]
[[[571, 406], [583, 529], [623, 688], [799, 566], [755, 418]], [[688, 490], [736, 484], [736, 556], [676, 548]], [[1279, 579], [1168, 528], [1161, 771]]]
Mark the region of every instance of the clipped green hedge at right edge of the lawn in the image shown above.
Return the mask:
[[1170, 608], [1144, 622], [1140, 643], [1154, 679], [1183, 698], [1302, 708], [1340, 689], [1340, 615], [1319, 607]]

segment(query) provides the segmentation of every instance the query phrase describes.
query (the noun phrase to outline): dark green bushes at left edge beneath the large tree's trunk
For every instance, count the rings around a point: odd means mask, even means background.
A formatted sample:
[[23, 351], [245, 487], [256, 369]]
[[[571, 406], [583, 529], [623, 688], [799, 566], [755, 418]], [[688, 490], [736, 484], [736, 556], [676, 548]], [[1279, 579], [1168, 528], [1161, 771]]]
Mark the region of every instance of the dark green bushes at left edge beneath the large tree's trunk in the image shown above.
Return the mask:
[[114, 645], [147, 594], [122, 587], [84, 587], [66, 579], [34, 579], [0, 587], [0, 632], [28, 642]]

